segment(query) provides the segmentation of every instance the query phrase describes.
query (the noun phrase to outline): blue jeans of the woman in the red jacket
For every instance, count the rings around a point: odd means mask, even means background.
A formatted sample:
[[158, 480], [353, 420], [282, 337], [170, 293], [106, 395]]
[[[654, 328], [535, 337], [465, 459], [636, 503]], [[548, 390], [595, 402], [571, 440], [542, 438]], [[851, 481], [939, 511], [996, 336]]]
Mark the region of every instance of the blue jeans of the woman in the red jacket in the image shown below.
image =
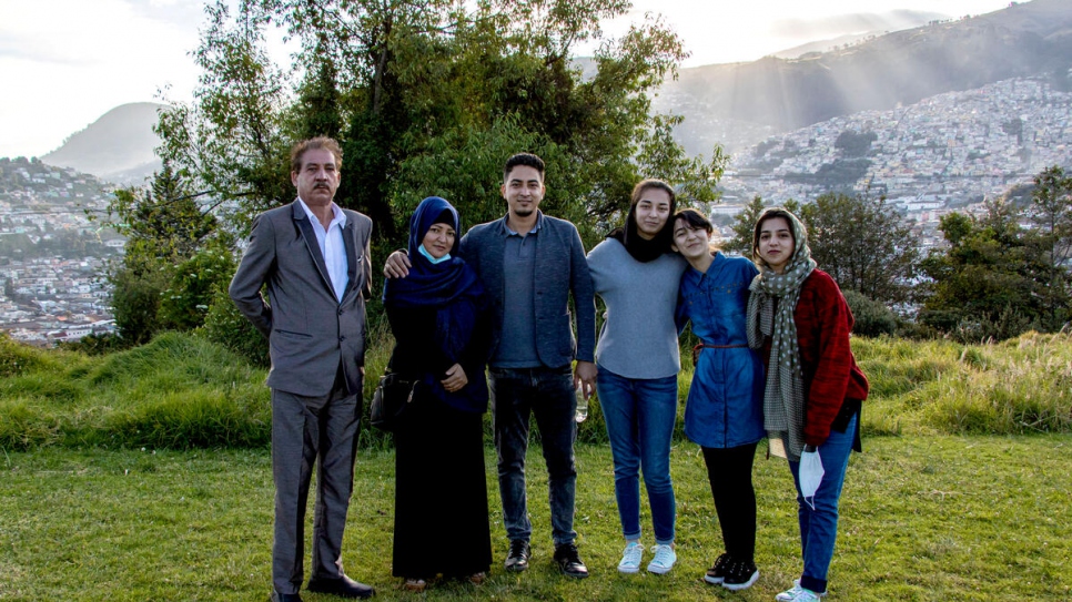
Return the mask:
[[856, 436], [857, 414], [849, 420], [845, 432], [831, 430], [827, 441], [819, 446], [822, 460], [822, 481], [816, 491], [815, 510], [800, 496], [800, 462], [789, 462], [792, 480], [797, 486], [797, 518], [800, 521], [800, 551], [805, 570], [800, 575], [800, 586], [813, 592], [827, 591], [827, 571], [833, 559], [833, 544], [838, 539], [838, 500], [845, 484], [845, 471], [852, 453], [852, 439]]

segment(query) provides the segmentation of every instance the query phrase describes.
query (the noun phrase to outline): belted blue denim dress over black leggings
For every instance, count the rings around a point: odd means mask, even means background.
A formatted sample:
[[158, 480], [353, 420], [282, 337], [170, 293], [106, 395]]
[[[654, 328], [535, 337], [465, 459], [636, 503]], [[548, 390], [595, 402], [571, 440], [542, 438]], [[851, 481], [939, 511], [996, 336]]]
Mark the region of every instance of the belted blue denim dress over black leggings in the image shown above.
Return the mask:
[[685, 408], [685, 435], [708, 448], [754, 443], [763, 430], [763, 363], [748, 348], [748, 285], [759, 272], [744, 257], [715, 254], [707, 274], [689, 267], [678, 293], [677, 325], [689, 322], [706, 345]]

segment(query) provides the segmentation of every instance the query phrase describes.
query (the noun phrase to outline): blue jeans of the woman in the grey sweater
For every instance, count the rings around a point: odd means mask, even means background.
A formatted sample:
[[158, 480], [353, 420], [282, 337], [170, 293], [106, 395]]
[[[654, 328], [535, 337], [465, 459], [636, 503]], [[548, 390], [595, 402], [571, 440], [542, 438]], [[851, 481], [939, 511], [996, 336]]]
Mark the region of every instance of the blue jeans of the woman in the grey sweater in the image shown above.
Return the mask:
[[677, 420], [677, 376], [626, 378], [600, 367], [599, 406], [614, 456], [614, 492], [621, 532], [640, 539], [640, 469], [651, 506], [656, 543], [674, 542], [676, 510], [670, 480], [670, 438]]

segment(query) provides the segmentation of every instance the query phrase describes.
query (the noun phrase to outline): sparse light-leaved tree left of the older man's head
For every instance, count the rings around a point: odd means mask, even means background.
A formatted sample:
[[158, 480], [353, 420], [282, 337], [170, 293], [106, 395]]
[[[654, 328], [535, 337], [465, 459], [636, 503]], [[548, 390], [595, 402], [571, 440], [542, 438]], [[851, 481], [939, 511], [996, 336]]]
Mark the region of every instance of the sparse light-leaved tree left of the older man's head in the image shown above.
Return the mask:
[[284, 136], [285, 84], [264, 50], [270, 16], [239, 3], [205, 7], [208, 24], [194, 62], [194, 102], [171, 102], [154, 127], [156, 154], [204, 195], [209, 210], [243, 232], [251, 216], [293, 197]]

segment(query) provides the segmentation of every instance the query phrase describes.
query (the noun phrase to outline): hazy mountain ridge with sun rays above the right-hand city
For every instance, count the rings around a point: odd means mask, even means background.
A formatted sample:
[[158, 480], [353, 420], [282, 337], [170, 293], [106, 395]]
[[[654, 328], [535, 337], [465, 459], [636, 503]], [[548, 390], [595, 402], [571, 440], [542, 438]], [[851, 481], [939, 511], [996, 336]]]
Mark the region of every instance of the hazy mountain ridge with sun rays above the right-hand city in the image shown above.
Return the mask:
[[897, 31], [801, 59], [682, 69], [656, 109], [684, 114], [686, 150], [730, 150], [767, 135], [866, 110], [1011, 78], [1048, 76], [1072, 89], [1072, 2], [1034, 0], [955, 21]]

